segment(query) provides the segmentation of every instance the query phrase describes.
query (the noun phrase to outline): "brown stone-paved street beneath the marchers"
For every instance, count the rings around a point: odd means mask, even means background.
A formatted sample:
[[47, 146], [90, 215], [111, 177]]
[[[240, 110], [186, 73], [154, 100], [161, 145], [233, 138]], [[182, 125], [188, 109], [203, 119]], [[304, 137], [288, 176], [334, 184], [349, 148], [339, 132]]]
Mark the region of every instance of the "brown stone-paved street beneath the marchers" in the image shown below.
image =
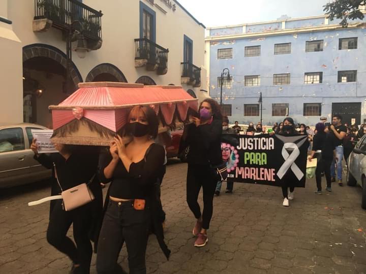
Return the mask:
[[[366, 273], [360, 188], [334, 184], [333, 192], [316, 195], [309, 180], [284, 208], [280, 188], [234, 184], [233, 194], [215, 197], [209, 242], [198, 249], [185, 200], [186, 172], [187, 165], [174, 160], [167, 168], [162, 200], [172, 254], [166, 261], [151, 236], [148, 273]], [[26, 205], [48, 193], [45, 183], [1, 190], [0, 273], [68, 273], [69, 259], [45, 239], [49, 204]], [[118, 261], [128, 269], [126, 248]]]

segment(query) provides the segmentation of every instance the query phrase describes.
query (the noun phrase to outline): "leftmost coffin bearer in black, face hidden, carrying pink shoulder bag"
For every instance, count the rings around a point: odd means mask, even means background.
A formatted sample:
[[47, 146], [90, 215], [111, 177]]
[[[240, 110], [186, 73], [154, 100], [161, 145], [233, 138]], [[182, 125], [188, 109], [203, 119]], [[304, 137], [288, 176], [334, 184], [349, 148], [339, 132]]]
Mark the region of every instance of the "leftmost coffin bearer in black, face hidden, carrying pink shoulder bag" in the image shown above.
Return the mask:
[[[47, 242], [72, 260], [71, 273], [89, 273], [93, 254], [89, 236], [97, 235], [93, 229], [100, 221], [103, 203], [102, 189], [96, 176], [99, 148], [63, 144], [54, 146], [59, 153], [38, 154], [37, 140], [33, 139], [31, 145], [35, 159], [44, 167], [52, 168], [51, 195], [60, 193], [60, 187], [66, 190], [90, 182], [88, 186], [95, 200], [71, 211], [64, 210], [62, 199], [51, 201]], [[66, 235], [71, 224], [76, 245]]]

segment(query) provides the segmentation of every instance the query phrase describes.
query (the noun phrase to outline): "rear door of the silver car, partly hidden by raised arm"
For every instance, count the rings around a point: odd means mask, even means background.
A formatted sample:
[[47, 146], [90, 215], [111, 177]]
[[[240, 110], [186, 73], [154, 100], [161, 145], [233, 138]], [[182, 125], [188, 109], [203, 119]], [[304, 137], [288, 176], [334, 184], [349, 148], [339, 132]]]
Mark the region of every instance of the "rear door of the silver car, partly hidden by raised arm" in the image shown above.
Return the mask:
[[27, 160], [29, 161], [29, 166], [31, 167], [30, 169], [31, 177], [34, 178], [35, 181], [40, 181], [47, 179], [51, 176], [51, 169], [43, 167], [43, 165], [41, 165], [37, 160], [34, 159], [34, 152], [30, 149], [33, 141], [32, 129], [45, 129], [45, 128], [25, 127], [26, 139], [27, 139], [27, 142], [25, 142], [26, 143], [25, 154], [27, 156]]

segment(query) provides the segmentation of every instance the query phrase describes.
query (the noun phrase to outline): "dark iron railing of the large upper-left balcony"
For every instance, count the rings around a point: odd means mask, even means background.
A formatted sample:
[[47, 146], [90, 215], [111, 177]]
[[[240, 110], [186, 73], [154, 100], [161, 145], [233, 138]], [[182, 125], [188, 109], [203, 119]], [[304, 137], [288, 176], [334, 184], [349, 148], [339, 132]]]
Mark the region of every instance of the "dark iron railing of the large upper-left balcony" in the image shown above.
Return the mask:
[[89, 39], [102, 38], [102, 15], [77, 0], [35, 0], [35, 20], [50, 19], [52, 26], [64, 30], [74, 24]]

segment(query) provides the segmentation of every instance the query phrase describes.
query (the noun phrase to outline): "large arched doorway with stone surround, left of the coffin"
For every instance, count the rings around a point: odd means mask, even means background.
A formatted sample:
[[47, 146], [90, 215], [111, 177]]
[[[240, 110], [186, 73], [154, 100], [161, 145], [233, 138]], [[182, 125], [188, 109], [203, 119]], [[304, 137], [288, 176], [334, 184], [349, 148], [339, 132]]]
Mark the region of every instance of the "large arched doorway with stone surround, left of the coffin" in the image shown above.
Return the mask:
[[48, 106], [59, 104], [82, 82], [74, 63], [66, 81], [66, 65], [66, 54], [55, 47], [33, 44], [23, 48], [24, 122], [52, 127]]

